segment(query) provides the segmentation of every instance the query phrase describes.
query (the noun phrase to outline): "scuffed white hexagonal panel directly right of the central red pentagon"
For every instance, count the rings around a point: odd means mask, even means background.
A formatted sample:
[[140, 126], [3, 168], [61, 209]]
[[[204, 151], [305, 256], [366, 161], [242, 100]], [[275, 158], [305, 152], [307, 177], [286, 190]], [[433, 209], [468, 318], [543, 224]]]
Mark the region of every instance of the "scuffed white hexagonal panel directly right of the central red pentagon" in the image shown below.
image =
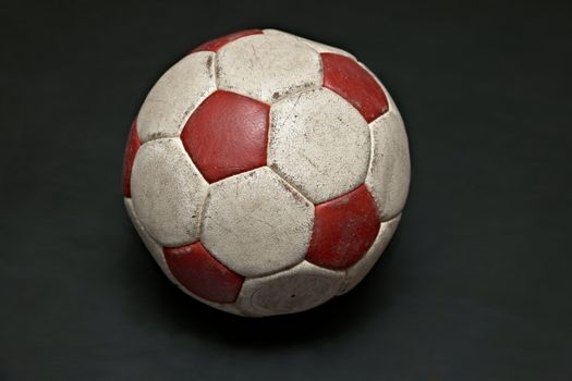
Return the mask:
[[365, 120], [327, 88], [299, 93], [270, 108], [268, 165], [314, 204], [362, 184], [369, 150]]

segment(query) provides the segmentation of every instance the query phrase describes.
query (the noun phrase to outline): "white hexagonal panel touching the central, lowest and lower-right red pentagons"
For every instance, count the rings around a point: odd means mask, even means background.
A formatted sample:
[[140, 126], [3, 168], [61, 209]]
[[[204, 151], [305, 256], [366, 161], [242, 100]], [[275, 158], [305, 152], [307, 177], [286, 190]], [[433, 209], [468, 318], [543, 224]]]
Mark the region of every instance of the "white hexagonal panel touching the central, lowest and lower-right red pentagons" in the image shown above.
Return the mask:
[[314, 206], [269, 168], [210, 185], [200, 241], [224, 266], [260, 276], [304, 259]]

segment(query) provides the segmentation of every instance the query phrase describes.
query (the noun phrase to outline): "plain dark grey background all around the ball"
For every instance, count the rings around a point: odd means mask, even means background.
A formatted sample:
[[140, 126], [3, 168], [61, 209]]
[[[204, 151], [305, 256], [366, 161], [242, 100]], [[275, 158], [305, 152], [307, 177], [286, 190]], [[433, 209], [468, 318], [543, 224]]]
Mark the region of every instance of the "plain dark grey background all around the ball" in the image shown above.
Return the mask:
[[[1, 15], [1, 380], [572, 380], [569, 1], [14, 1]], [[413, 182], [354, 292], [247, 320], [160, 273], [123, 210], [121, 162], [165, 70], [270, 26], [382, 78]]]

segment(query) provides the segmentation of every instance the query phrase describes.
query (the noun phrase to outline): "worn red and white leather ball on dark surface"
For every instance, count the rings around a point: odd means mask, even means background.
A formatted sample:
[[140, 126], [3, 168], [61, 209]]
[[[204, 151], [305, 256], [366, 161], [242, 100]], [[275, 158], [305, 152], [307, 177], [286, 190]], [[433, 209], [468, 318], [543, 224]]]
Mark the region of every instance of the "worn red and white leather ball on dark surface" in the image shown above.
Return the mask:
[[131, 127], [123, 194], [174, 284], [261, 317], [354, 287], [389, 243], [409, 182], [403, 121], [365, 65], [251, 29], [159, 78]]

